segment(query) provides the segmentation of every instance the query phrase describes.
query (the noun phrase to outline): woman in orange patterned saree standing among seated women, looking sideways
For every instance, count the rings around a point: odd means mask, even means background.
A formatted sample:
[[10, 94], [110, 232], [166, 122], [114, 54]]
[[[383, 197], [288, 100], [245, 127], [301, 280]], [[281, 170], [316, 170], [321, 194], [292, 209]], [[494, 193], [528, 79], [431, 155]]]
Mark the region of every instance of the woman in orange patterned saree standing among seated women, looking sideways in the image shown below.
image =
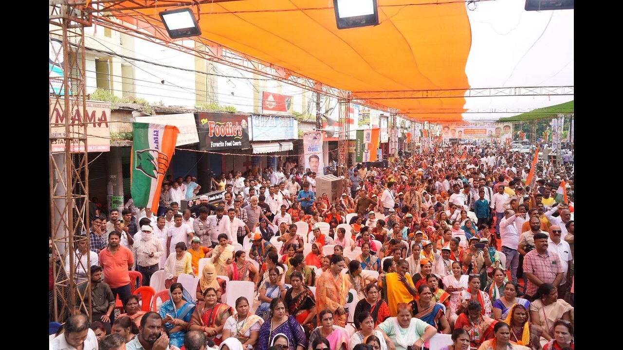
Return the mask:
[[[340, 327], [346, 325], [344, 305], [346, 305], [346, 300], [348, 299], [348, 290], [351, 288], [348, 277], [341, 273], [344, 265], [343, 257], [333, 255], [330, 268], [320, 275], [316, 286], [316, 308], [318, 310], [327, 309], [335, 311], [334, 323]], [[318, 316], [317, 321], [320, 323], [320, 316]]]

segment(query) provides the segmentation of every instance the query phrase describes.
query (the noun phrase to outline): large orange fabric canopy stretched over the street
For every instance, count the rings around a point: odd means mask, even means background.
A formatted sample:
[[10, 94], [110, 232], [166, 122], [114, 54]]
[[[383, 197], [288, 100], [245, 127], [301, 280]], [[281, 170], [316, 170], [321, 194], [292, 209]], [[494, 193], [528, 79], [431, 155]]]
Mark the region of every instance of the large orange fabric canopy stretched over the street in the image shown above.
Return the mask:
[[[234, 51], [350, 91], [416, 120], [462, 120], [465, 98], [392, 98], [388, 91], [467, 89], [471, 45], [463, 2], [378, 0], [379, 25], [338, 30], [330, 0], [202, 4], [202, 36]], [[123, 2], [113, 7], [130, 6]], [[324, 6], [324, 7], [321, 7]], [[196, 10], [196, 7], [194, 7]], [[140, 11], [158, 19], [160, 8]], [[124, 18], [126, 19], [126, 18]], [[409, 113], [452, 109], [452, 114]]]

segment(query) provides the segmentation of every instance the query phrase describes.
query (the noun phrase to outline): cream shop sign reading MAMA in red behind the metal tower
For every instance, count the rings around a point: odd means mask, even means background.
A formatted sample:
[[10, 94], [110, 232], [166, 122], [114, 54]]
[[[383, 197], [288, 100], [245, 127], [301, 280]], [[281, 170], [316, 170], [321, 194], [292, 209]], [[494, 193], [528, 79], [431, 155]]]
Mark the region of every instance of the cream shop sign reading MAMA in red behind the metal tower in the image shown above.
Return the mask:
[[52, 130], [52, 152], [65, 151], [65, 118], [69, 119], [69, 133], [72, 152], [83, 152], [84, 142], [78, 138], [84, 137], [85, 128], [82, 123], [87, 123], [87, 152], [110, 151], [110, 103], [86, 102], [86, 111], [82, 111], [82, 103], [71, 100], [71, 111], [63, 113], [65, 102], [63, 98], [52, 99], [50, 103], [50, 124]]

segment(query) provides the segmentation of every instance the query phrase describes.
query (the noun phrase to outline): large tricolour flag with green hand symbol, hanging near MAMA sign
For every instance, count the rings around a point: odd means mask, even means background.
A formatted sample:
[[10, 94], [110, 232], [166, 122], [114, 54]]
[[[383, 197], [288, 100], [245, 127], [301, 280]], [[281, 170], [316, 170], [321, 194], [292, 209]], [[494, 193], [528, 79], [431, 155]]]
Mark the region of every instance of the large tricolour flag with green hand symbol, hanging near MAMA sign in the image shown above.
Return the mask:
[[178, 140], [173, 125], [133, 123], [130, 153], [130, 192], [136, 207], [158, 212], [160, 189]]

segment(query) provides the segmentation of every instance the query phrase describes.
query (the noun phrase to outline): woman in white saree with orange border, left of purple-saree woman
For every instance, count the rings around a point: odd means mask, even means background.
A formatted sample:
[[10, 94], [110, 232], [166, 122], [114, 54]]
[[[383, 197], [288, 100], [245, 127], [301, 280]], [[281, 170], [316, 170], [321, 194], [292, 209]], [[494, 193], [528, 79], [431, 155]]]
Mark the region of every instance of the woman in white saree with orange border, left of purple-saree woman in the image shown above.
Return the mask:
[[236, 315], [229, 316], [223, 327], [223, 341], [227, 338], [236, 338], [242, 343], [242, 348], [255, 346], [260, 335], [260, 328], [264, 319], [250, 313], [249, 300], [240, 296], [235, 300]]

